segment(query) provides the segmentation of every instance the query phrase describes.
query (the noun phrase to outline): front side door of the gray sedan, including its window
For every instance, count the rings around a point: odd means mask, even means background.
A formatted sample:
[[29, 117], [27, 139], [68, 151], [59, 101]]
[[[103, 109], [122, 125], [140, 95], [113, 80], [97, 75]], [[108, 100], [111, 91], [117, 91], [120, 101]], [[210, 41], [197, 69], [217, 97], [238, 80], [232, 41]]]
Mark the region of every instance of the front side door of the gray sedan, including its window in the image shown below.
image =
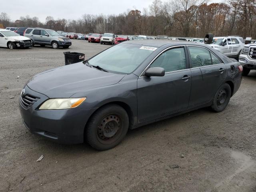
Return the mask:
[[191, 71], [186, 47], [170, 48], [160, 54], [150, 67], [162, 67], [165, 75], [140, 76], [137, 81], [138, 122], [146, 122], [188, 108]]

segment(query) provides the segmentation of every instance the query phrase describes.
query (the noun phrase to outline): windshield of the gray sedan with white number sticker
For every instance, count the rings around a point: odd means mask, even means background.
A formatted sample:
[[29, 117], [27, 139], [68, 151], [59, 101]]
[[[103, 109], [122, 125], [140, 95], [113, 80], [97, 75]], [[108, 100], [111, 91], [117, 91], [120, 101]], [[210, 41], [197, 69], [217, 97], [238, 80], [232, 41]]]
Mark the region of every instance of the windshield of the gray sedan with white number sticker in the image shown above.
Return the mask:
[[152, 54], [155, 49], [135, 44], [118, 44], [94, 56], [88, 62], [90, 65], [100, 66], [108, 71], [129, 74]]

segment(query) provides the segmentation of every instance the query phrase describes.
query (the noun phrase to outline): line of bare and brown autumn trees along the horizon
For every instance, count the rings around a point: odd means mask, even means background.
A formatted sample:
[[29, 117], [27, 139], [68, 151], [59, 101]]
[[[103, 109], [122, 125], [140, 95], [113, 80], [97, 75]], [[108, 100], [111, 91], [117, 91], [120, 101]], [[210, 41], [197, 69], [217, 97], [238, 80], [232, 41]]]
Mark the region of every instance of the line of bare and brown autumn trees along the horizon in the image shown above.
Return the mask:
[[204, 37], [239, 35], [256, 39], [256, 0], [230, 0], [209, 3], [208, 0], [154, 0], [148, 8], [130, 10], [119, 15], [84, 14], [78, 20], [55, 20], [47, 16], [44, 23], [37, 17], [21, 16], [12, 22], [7, 13], [0, 14], [4, 27], [42, 27], [65, 32], [112, 32], [126, 35], [168, 35]]

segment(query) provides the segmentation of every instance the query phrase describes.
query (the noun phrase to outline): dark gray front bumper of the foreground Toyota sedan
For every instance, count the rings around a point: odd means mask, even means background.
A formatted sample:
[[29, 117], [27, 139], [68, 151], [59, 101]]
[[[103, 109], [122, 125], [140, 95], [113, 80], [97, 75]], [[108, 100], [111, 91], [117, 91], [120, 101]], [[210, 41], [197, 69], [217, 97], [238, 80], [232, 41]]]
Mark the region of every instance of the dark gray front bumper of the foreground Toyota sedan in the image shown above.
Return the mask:
[[31, 90], [28, 86], [25, 86], [24, 90], [24, 95], [39, 98], [28, 108], [24, 107], [21, 100], [19, 102], [22, 121], [31, 133], [61, 144], [84, 142], [86, 122], [96, 109], [83, 110], [77, 107], [66, 110], [38, 110], [40, 104], [48, 97]]

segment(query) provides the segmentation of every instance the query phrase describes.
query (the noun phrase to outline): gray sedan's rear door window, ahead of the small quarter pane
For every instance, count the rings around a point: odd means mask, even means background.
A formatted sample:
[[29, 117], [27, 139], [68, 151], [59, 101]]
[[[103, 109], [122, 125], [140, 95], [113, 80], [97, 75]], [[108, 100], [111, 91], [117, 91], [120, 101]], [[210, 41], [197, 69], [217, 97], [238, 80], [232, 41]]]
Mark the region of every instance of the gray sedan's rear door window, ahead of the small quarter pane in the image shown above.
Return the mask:
[[210, 51], [202, 47], [188, 46], [192, 68], [212, 65]]

